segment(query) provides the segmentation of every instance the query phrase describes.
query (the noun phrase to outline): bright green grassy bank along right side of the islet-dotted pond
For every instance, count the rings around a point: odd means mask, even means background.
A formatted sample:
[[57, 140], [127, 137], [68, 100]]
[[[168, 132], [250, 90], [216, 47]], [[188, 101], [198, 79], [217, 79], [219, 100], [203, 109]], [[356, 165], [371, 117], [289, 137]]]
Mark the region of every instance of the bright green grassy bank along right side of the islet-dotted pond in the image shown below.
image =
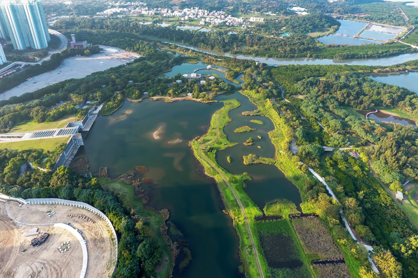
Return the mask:
[[[305, 192], [303, 191], [303, 186], [309, 177], [296, 167], [295, 162], [292, 161], [292, 153], [290, 151], [290, 143], [293, 140], [293, 130], [291, 126], [286, 124], [285, 117], [280, 116], [274, 109], [273, 104], [268, 99], [259, 99], [258, 95], [252, 91], [240, 91], [241, 94], [247, 96], [250, 101], [257, 106], [257, 109], [261, 114], [267, 116], [275, 126], [275, 129], [270, 131], [269, 137], [272, 140], [273, 145], [275, 146], [275, 166], [280, 169], [280, 171], [285, 174], [286, 178], [290, 180], [293, 184], [298, 187], [299, 192], [301, 193], [302, 204], [301, 208], [303, 213], [314, 213], [316, 209], [313, 204], [309, 203], [306, 197]], [[347, 248], [346, 245], [337, 241], [341, 239], [342, 236], [340, 225], [331, 225], [324, 219], [326, 224], [329, 226], [330, 232], [334, 238], [334, 241], [338, 244], [340, 250], [344, 254], [346, 260], [347, 268], [349, 269], [352, 277], [359, 277], [358, 271], [359, 266], [364, 262], [359, 258], [356, 258], [352, 251]], [[347, 233], [344, 234], [344, 240], [351, 240], [350, 236]]]

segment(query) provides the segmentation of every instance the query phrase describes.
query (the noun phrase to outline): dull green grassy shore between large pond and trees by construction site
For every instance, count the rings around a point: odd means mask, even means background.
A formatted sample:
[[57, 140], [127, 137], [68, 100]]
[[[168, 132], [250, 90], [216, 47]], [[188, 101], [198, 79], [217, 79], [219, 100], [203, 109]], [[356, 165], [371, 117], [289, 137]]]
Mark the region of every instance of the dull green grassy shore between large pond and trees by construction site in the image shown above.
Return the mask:
[[[148, 226], [151, 229], [148, 232], [150, 233], [150, 236], [157, 239], [158, 244], [163, 248], [164, 255], [161, 258], [160, 264], [166, 263], [164, 267], [157, 267], [156, 277], [167, 277], [171, 267], [171, 253], [161, 235], [161, 225], [163, 225], [164, 222], [163, 216], [158, 212], [145, 208], [141, 199], [135, 196], [134, 188], [130, 184], [127, 184], [122, 180], [108, 180], [104, 177], [99, 178], [99, 182], [102, 184], [104, 190], [107, 190], [112, 194], [116, 193], [122, 206], [127, 211], [135, 210], [135, 212], [140, 215], [143, 222], [149, 223]], [[167, 260], [167, 262], [164, 260]]]

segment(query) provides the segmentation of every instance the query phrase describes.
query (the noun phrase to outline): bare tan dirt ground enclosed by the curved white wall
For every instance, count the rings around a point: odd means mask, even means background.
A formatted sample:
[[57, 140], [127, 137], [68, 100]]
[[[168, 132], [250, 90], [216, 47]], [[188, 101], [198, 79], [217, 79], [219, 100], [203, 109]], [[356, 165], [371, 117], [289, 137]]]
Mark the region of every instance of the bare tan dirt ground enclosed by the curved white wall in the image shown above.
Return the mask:
[[[82, 236], [87, 240], [88, 264], [85, 277], [107, 278], [112, 274], [117, 255], [116, 245], [109, 226], [98, 215], [82, 208], [64, 205], [23, 205], [18, 207], [17, 202], [8, 201], [7, 208], [9, 214], [20, 222], [71, 223], [83, 232]], [[49, 210], [55, 210], [56, 214], [47, 217], [46, 212]], [[70, 218], [67, 214], [85, 215], [94, 223], [74, 216]], [[36, 226], [25, 226], [10, 221], [5, 214], [3, 202], [0, 202], [0, 277], [26, 278], [31, 275], [30, 271], [36, 274], [32, 277], [78, 277], [82, 266], [82, 249], [74, 235], [59, 227], [38, 226], [41, 233], [49, 229], [48, 233], [51, 235], [39, 247], [32, 247], [29, 242], [34, 236], [23, 237], [23, 234], [33, 227]], [[23, 242], [23, 240], [25, 240], [23, 247], [28, 250], [21, 253], [19, 242]], [[72, 244], [70, 251], [61, 254], [56, 248], [64, 241], [70, 241]], [[7, 248], [3, 248], [3, 246]], [[14, 255], [8, 258], [9, 256], [5, 254], [9, 253]], [[6, 265], [2, 263], [3, 258], [8, 258]], [[25, 272], [22, 272], [23, 269], [26, 269]], [[3, 276], [5, 273], [9, 274]], [[28, 274], [26, 275], [26, 273]]]

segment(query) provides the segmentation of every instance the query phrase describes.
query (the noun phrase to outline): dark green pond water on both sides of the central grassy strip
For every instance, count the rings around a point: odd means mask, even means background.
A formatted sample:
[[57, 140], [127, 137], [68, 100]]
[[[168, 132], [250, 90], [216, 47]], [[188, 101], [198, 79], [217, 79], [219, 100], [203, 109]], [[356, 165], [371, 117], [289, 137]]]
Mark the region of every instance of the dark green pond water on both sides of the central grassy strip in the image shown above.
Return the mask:
[[[188, 68], [183, 69], [183, 65]], [[182, 66], [174, 67], [171, 74], [189, 73], [190, 64]], [[194, 68], [196, 65], [191, 70]], [[222, 73], [216, 73], [221, 77]], [[241, 106], [230, 112], [233, 121], [225, 127], [225, 133], [231, 141], [240, 143], [252, 136], [255, 144], [249, 147], [239, 144], [219, 152], [219, 164], [232, 173], [250, 174], [252, 180], [246, 182], [245, 191], [261, 208], [275, 198], [286, 198], [299, 205], [298, 190], [276, 167], [262, 164], [245, 166], [242, 163], [244, 154], [274, 156], [274, 147], [267, 134], [274, 127], [266, 117], [242, 116], [242, 111], [252, 111], [256, 106], [238, 92], [216, 99], [231, 98], [238, 99]], [[112, 116], [99, 116], [84, 139], [90, 171], [98, 172], [99, 167], [108, 167], [110, 177], [116, 178], [132, 172], [135, 165], [148, 167], [149, 172], [145, 176], [155, 180], [153, 184], [143, 185], [150, 196], [148, 205], [157, 210], [167, 208], [170, 211], [170, 220], [184, 233], [184, 240], [192, 253], [190, 265], [181, 274], [175, 271], [176, 277], [240, 277], [237, 273], [240, 265], [239, 240], [232, 219], [222, 212], [224, 208], [216, 184], [202, 173], [201, 165], [187, 146], [191, 139], [206, 133], [212, 114], [222, 106], [221, 103], [201, 104], [194, 101], [166, 104], [146, 100], [136, 105], [125, 102]], [[111, 119], [128, 109], [132, 113], [126, 119], [110, 123]], [[250, 119], [260, 119], [265, 124], [250, 123]], [[247, 134], [232, 132], [236, 127], [249, 123], [257, 130]], [[160, 126], [163, 126], [163, 133], [161, 139], [156, 140], [152, 133]], [[262, 139], [258, 139], [257, 135]], [[176, 139], [183, 141], [168, 144]], [[230, 164], [226, 161], [228, 155], [233, 159]]]

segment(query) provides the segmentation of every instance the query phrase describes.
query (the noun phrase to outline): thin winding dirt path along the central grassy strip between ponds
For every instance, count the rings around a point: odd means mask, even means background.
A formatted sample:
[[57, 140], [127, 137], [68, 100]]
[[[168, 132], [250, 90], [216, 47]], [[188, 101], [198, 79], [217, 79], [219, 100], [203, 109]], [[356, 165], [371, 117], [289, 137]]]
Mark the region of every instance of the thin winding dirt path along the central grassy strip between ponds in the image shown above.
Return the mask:
[[[217, 121], [218, 123], [220, 123], [220, 117], [221, 117], [221, 113], [219, 113]], [[240, 198], [237, 195], [237, 192], [235, 192], [234, 188], [232, 187], [232, 185], [228, 182], [227, 177], [225, 177], [225, 175], [215, 166], [215, 164], [210, 161], [209, 159], [206, 158], [206, 156], [203, 154], [202, 149], [203, 147], [206, 147], [208, 144], [216, 141], [219, 137], [219, 126], [216, 129], [216, 136], [214, 137], [214, 139], [212, 139], [211, 141], [207, 142], [206, 144], [202, 144], [199, 147], [199, 154], [200, 156], [207, 162], [209, 163], [209, 165], [216, 170], [216, 172], [218, 172], [218, 174], [222, 177], [222, 179], [224, 179], [225, 183], [228, 185], [229, 189], [232, 191], [232, 194], [234, 194], [235, 200], [237, 201], [238, 205], [240, 206], [240, 210], [242, 213], [242, 216], [244, 216], [244, 220], [245, 220], [245, 226], [247, 228], [247, 232], [250, 235], [250, 242], [251, 242], [251, 246], [252, 246], [252, 250], [254, 250], [254, 255], [255, 255], [255, 262], [257, 263], [257, 269], [258, 269], [258, 273], [260, 274], [261, 278], [264, 278], [264, 274], [263, 274], [263, 268], [261, 268], [261, 263], [260, 263], [260, 259], [258, 258], [258, 252], [257, 252], [257, 248], [255, 246], [254, 243], [254, 238], [252, 237], [252, 233], [251, 233], [251, 228], [250, 228], [250, 223], [248, 222], [248, 218], [247, 218], [247, 214], [245, 213], [245, 209], [244, 206], [242, 205]]]

